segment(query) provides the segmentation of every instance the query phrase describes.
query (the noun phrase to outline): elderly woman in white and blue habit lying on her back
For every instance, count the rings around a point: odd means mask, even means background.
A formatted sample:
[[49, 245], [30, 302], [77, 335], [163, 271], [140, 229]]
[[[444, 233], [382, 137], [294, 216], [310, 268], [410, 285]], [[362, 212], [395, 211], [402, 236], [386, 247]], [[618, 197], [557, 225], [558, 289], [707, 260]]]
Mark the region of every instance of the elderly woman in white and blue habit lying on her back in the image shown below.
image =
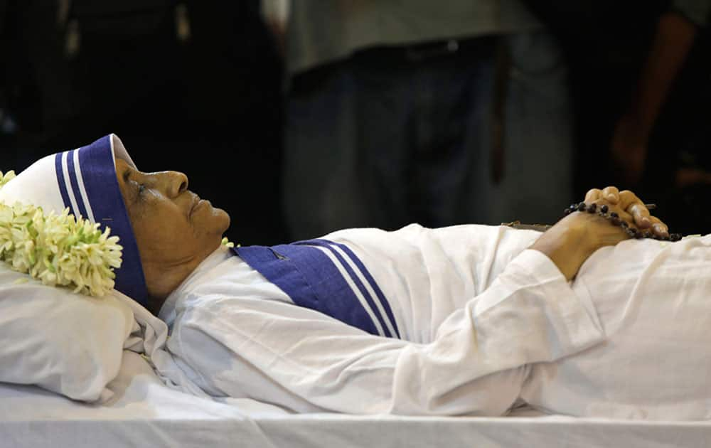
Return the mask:
[[168, 324], [181, 381], [215, 397], [296, 412], [505, 415], [528, 403], [710, 416], [711, 240], [631, 239], [629, 228], [668, 230], [629, 191], [585, 198], [624, 225], [586, 210], [545, 233], [413, 224], [229, 248], [227, 213], [184, 174], [139, 171], [112, 135], [41, 159], [0, 199], [109, 225], [124, 247], [116, 288]]

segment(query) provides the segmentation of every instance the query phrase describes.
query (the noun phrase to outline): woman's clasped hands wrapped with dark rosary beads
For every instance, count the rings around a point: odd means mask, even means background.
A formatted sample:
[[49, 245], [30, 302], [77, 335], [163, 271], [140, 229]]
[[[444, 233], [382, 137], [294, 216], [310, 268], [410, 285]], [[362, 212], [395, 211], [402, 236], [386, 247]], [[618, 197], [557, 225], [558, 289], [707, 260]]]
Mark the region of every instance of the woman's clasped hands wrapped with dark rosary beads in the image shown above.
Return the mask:
[[600, 247], [630, 238], [672, 239], [666, 225], [650, 215], [631, 191], [594, 188], [585, 199], [568, 208], [565, 218], [542, 233], [531, 246], [547, 255], [566, 279], [572, 279]]

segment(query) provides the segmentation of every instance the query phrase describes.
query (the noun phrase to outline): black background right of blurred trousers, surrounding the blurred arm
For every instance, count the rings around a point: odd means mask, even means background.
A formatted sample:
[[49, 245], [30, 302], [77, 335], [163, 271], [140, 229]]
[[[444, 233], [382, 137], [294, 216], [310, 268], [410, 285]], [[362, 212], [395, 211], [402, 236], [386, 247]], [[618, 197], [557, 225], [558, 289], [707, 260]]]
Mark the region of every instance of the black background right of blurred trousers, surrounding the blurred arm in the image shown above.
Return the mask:
[[[641, 182], [627, 186], [616, 176], [606, 149], [617, 120], [629, 105], [653, 43], [666, 0], [526, 0], [557, 37], [570, 68], [574, 105], [574, 191], [592, 186], [631, 188], [658, 205], [653, 214], [670, 231], [711, 233], [711, 186], [675, 185], [680, 168], [711, 170], [711, 36], [699, 28], [683, 67], [653, 128]], [[602, 157], [601, 157], [602, 156]], [[607, 156], [607, 158], [606, 158]]]

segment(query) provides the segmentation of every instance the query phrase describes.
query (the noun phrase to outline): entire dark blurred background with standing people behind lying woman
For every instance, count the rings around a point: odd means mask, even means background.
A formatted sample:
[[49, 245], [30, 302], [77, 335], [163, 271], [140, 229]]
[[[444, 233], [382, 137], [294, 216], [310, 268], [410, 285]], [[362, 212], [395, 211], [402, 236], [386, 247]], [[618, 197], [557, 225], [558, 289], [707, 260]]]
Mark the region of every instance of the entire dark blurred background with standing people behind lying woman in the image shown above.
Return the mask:
[[552, 223], [609, 184], [708, 233], [710, 4], [0, 0], [0, 170], [115, 132], [244, 245]]

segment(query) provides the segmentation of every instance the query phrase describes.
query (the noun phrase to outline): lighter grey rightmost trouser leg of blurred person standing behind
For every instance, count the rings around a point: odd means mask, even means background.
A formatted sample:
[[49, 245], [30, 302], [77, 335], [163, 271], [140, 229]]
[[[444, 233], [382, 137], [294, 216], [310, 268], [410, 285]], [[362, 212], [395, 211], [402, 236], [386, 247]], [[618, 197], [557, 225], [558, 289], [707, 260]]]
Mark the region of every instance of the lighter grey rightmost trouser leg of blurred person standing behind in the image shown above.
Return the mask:
[[[500, 182], [493, 181], [491, 132], [471, 134], [471, 145], [483, 147], [472, 178], [471, 189], [478, 196], [471, 219], [552, 224], [572, 201], [567, 68], [545, 31], [510, 35], [506, 41], [510, 68], [503, 108], [503, 175]], [[482, 129], [491, 129], [488, 119]]]

